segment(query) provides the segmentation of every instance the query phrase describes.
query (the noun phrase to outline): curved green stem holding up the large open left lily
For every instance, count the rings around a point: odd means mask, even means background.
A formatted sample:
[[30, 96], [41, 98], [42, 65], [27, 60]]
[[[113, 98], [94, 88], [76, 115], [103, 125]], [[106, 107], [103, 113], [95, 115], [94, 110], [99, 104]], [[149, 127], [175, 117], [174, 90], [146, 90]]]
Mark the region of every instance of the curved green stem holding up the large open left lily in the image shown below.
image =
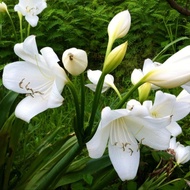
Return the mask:
[[80, 106], [79, 106], [79, 100], [77, 96], [77, 91], [75, 86], [71, 81], [67, 83], [69, 90], [73, 96], [74, 103], [75, 103], [75, 110], [76, 110], [76, 120], [74, 118], [74, 130], [77, 136], [77, 139], [79, 141], [79, 144], [83, 144], [83, 119], [81, 120], [81, 112], [80, 112]]

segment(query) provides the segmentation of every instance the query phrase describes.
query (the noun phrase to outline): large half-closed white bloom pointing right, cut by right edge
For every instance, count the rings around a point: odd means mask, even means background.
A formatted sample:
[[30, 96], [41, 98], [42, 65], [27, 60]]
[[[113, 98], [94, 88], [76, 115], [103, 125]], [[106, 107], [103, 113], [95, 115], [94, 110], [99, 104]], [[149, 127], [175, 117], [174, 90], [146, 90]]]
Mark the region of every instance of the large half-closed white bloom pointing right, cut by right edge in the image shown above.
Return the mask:
[[181, 49], [142, 79], [163, 88], [174, 88], [190, 81], [190, 46]]

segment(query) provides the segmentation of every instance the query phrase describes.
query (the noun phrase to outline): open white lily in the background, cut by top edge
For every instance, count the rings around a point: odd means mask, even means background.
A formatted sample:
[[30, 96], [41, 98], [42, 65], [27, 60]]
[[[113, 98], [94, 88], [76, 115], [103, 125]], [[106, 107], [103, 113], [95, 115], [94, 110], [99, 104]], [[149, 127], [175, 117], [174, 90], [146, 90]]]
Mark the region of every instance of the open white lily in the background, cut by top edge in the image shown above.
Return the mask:
[[47, 7], [45, 0], [19, 0], [19, 3], [15, 5], [14, 10], [20, 12], [25, 16], [26, 21], [35, 27], [38, 23], [38, 14], [40, 14]]

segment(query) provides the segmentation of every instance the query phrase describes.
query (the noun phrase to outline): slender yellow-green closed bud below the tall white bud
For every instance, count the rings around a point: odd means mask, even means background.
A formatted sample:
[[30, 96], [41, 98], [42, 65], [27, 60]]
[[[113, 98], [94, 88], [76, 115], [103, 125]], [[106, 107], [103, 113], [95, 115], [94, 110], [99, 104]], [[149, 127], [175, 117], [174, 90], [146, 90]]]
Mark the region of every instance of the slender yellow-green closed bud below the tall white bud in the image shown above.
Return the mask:
[[103, 66], [104, 73], [110, 73], [121, 63], [127, 50], [127, 44], [125, 42], [117, 46], [108, 54]]

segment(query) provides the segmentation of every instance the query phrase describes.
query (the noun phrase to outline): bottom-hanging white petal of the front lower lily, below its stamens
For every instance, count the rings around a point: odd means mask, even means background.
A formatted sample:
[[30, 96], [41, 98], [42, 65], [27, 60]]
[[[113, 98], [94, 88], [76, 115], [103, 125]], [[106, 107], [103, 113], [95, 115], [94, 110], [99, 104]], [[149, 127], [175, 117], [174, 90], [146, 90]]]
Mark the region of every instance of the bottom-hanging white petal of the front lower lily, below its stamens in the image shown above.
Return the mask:
[[132, 145], [132, 148], [123, 150], [109, 143], [108, 149], [111, 162], [123, 181], [134, 179], [137, 174], [140, 152], [137, 144]]

